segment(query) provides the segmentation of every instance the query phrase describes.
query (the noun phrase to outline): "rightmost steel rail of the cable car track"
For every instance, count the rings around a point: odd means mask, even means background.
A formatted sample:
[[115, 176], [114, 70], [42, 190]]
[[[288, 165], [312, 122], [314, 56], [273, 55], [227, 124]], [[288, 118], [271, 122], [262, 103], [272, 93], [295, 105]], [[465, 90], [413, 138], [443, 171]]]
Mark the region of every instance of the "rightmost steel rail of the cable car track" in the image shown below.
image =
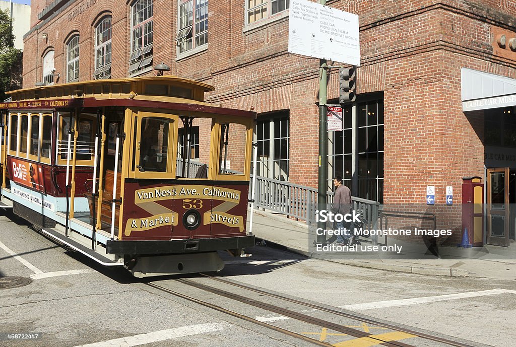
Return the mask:
[[[449, 339], [446, 339], [446, 338], [442, 338], [442, 337], [439, 337], [439, 336], [434, 336], [434, 335], [430, 335], [430, 334], [416, 332], [416, 331], [413, 331], [411, 329], [407, 329], [407, 328], [404, 328], [404, 327], [399, 327], [399, 326], [392, 325], [392, 324], [389, 324], [389, 323], [383, 323], [383, 322], [375, 321], [373, 319], [368, 319], [368, 318], [360, 317], [360, 316], [357, 316], [357, 315], [353, 315], [351, 313], [345, 313], [345, 312], [342, 312], [342, 311], [338, 311], [338, 310], [335, 310], [335, 309], [319, 306], [319, 305], [312, 304], [312, 303], [309, 303], [309, 302], [305, 302], [305, 301], [301, 301], [301, 300], [297, 300], [297, 299], [292, 299], [292, 298], [287, 298], [286, 296], [283, 296], [283, 295], [279, 295], [279, 294], [275, 294], [275, 293], [270, 293], [268, 291], [261, 290], [261, 289], [256, 289], [256, 288], [249, 287], [249, 286], [246, 286], [246, 285], [240, 284], [240, 283], [234, 283], [232, 281], [229, 281], [229, 280], [226, 280], [226, 279], [223, 279], [223, 278], [220, 278], [220, 277], [215, 277], [215, 276], [211, 276], [211, 275], [204, 274], [204, 273], [201, 273], [201, 275], [203, 275], [205, 277], [208, 277], [208, 278], [211, 278], [213, 280], [216, 280], [218, 282], [224, 283], [224, 284], [228, 284], [228, 285], [232, 285], [232, 286], [235, 286], [235, 287], [238, 287], [238, 288], [250, 290], [250, 291], [253, 291], [253, 292], [259, 293], [259, 294], [268, 295], [268, 296], [271, 296], [272, 298], [281, 299], [281, 300], [292, 302], [292, 303], [295, 303], [295, 304], [298, 304], [298, 305], [308, 306], [308, 307], [311, 307], [311, 308], [314, 308], [314, 309], [317, 309], [317, 310], [320, 310], [320, 311], [332, 313], [332, 314], [334, 314], [336, 316], [350, 318], [350, 319], [358, 320], [358, 321], [361, 321], [361, 322], [364, 322], [364, 323], [373, 324], [373, 325], [377, 325], [377, 326], [393, 329], [395, 331], [399, 331], [399, 332], [415, 335], [417, 337], [421, 337], [421, 338], [424, 338], [424, 339], [427, 339], [427, 340], [431, 340], [431, 341], [435, 341], [435, 342], [440, 342], [440, 343], [445, 343], [445, 344], [448, 344], [450, 346], [455, 346], [455, 347], [476, 347], [476, 346], [473, 346], [471, 344], [465, 344], [465, 343], [462, 343], [462, 342], [457, 342], [457, 341], [449, 340]], [[331, 329], [334, 329], [334, 328], [331, 328]]]

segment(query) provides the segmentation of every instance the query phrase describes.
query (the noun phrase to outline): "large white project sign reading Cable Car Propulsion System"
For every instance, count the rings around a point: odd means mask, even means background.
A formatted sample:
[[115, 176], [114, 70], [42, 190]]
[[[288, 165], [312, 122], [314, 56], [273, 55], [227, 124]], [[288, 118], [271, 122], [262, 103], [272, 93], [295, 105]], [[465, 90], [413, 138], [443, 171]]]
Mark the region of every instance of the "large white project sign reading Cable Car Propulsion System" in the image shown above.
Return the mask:
[[360, 66], [358, 15], [309, 0], [292, 0], [288, 52]]

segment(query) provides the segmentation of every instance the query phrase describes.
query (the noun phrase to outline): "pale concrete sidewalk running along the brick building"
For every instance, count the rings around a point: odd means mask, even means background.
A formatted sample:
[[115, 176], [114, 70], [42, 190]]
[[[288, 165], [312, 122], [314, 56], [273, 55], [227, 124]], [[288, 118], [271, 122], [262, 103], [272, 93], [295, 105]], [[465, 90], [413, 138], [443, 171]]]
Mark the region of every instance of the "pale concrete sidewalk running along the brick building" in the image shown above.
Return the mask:
[[[249, 216], [247, 224], [249, 230]], [[460, 257], [455, 256], [454, 259], [371, 259], [374, 255], [364, 256], [363, 253], [357, 253], [356, 256], [365, 257], [364, 259], [352, 259], [352, 256], [346, 253], [316, 252], [315, 247], [309, 245], [311, 242], [309, 242], [307, 224], [286, 219], [281, 214], [261, 210], [254, 212], [252, 233], [257, 239], [263, 239], [268, 244], [276, 244], [289, 251], [312, 258], [351, 266], [424, 275], [516, 280], [516, 242], [512, 242], [509, 248], [491, 245], [470, 249], [440, 247], [440, 254], [443, 254], [443, 257], [446, 257], [447, 253], [463, 254]], [[382, 240], [383, 238], [379, 241], [382, 242]], [[362, 244], [370, 245], [371, 243], [363, 240]], [[486, 259], [486, 254], [490, 259]], [[498, 259], [493, 259], [497, 256]], [[482, 259], [478, 259], [478, 257], [482, 257]]]

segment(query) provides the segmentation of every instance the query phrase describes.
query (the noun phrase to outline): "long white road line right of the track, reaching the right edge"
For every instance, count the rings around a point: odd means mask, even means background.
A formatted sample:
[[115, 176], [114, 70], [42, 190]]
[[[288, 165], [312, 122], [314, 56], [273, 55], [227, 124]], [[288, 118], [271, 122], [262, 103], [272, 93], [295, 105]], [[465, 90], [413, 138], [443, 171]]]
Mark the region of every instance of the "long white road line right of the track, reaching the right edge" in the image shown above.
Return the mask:
[[480, 291], [475, 291], [475, 292], [465, 292], [465, 293], [457, 293], [457, 294], [424, 296], [422, 298], [377, 301], [377, 302], [364, 303], [364, 304], [343, 305], [343, 306], [338, 306], [338, 307], [345, 308], [345, 309], [352, 310], [352, 311], [360, 311], [360, 310], [370, 310], [370, 309], [374, 309], [374, 308], [395, 307], [395, 306], [432, 303], [432, 302], [437, 302], [437, 301], [475, 298], [476, 296], [496, 295], [496, 294], [505, 294], [505, 293], [516, 294], [516, 290], [490, 289], [490, 290], [480, 290]]

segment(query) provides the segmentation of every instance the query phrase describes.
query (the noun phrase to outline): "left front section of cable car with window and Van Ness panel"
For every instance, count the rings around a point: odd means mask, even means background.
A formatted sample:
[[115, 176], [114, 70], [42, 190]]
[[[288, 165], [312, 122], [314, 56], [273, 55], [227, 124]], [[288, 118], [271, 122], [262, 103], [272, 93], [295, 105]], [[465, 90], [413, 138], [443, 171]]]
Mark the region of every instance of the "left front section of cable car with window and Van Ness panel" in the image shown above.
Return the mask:
[[179, 118], [161, 112], [132, 113], [122, 239], [170, 240], [178, 223], [171, 180], [175, 178]]

